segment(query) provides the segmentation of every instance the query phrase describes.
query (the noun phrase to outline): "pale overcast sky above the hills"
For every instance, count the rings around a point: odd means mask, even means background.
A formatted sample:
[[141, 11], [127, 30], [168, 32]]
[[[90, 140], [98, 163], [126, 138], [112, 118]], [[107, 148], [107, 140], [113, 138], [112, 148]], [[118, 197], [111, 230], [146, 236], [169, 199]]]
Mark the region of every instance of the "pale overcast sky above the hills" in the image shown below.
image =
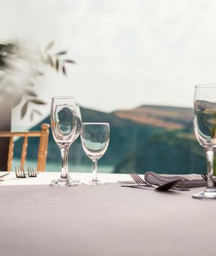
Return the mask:
[[54, 95], [103, 111], [192, 106], [194, 85], [216, 82], [214, 0], [1, 0], [0, 10], [2, 40], [55, 40], [77, 61], [66, 78], [48, 69], [36, 81], [44, 113]]

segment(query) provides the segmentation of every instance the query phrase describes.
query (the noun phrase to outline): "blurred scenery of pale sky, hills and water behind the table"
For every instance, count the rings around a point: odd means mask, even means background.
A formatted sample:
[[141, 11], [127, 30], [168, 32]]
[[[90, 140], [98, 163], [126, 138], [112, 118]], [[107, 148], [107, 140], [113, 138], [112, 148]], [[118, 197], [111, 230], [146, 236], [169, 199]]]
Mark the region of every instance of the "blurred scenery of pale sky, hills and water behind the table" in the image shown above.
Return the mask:
[[[49, 123], [52, 96], [71, 95], [83, 122], [110, 123], [110, 144], [99, 172], [200, 173], [206, 169], [193, 135], [193, 93], [215, 82], [216, 2], [213, 0], [1, 0], [1, 41], [25, 48], [67, 50], [76, 64], [67, 75], [41, 64], [34, 91], [46, 105], [31, 121], [12, 110], [12, 130]], [[14, 164], [21, 152], [15, 142]], [[36, 165], [35, 139], [27, 164]], [[80, 138], [70, 147], [70, 171], [91, 172]], [[46, 171], [60, 171], [60, 151], [49, 137]]]

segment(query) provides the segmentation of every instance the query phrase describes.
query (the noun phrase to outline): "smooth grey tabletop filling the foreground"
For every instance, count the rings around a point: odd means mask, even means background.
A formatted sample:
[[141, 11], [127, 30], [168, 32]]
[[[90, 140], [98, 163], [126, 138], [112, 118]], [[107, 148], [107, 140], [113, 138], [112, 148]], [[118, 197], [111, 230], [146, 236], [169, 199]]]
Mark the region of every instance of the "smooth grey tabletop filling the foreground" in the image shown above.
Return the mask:
[[1, 186], [0, 255], [213, 255], [216, 200], [120, 184]]

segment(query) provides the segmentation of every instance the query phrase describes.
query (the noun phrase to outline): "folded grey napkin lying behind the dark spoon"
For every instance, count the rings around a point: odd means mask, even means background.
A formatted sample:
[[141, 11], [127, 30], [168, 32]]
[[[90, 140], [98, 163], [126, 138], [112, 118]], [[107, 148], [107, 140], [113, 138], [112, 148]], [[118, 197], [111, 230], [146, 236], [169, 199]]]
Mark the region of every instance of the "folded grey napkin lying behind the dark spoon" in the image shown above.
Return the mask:
[[206, 186], [206, 181], [202, 179], [202, 177], [198, 174], [188, 174], [188, 175], [180, 175], [180, 176], [172, 176], [172, 175], [164, 175], [153, 173], [152, 171], [148, 171], [144, 174], [144, 179], [149, 184], [165, 184], [170, 181], [174, 181], [175, 179], [182, 179], [180, 184], [177, 187], [204, 187]]

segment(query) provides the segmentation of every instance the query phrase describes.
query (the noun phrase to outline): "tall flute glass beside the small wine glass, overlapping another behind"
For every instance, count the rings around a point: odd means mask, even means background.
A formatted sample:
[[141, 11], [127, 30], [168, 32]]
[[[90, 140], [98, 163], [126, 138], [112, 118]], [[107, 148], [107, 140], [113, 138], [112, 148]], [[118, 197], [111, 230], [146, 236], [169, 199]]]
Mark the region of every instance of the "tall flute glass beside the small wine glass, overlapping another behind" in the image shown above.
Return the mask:
[[53, 187], [75, 186], [69, 175], [69, 147], [76, 134], [77, 114], [73, 97], [53, 97], [51, 104], [52, 136], [60, 148], [62, 157], [62, 174], [58, 180], [51, 182]]

